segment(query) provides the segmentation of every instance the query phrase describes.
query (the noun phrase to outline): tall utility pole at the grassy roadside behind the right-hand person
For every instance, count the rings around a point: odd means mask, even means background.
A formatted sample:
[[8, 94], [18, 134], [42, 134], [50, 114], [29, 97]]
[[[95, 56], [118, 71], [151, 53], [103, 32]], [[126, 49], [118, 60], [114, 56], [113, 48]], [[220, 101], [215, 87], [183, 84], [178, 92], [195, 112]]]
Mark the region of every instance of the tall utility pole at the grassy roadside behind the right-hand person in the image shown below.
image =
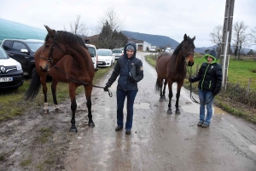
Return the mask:
[[226, 0], [225, 14], [224, 14], [224, 26], [223, 26], [223, 37], [221, 46], [220, 63], [223, 71], [223, 82], [222, 85], [226, 86], [228, 77], [228, 64], [230, 56], [230, 42], [232, 37], [232, 23], [234, 14], [234, 3], [235, 0]]

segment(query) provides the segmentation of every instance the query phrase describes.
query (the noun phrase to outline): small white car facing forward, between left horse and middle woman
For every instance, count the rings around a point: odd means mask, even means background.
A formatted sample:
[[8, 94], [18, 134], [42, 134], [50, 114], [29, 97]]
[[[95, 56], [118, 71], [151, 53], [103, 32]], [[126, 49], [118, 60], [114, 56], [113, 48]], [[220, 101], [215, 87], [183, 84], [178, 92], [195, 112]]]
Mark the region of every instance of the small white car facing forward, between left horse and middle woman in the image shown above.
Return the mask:
[[98, 66], [112, 66], [114, 64], [114, 55], [112, 50], [108, 48], [97, 49], [98, 53]]

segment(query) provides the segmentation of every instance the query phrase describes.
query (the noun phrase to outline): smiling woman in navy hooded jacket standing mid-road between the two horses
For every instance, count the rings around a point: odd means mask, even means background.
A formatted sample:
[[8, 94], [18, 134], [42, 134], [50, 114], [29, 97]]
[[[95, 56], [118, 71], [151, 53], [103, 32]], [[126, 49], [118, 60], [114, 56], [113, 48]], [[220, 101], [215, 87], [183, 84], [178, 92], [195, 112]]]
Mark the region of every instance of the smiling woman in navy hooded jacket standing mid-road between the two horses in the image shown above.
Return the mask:
[[[104, 88], [104, 91], [108, 91], [108, 88], [113, 82], [118, 79], [116, 97], [117, 97], [117, 127], [115, 131], [119, 131], [123, 128], [124, 123], [124, 103], [125, 97], [127, 97], [127, 117], [125, 123], [125, 134], [131, 134], [132, 118], [133, 118], [133, 104], [137, 95], [137, 83], [143, 79], [143, 62], [136, 58], [137, 48], [136, 43], [128, 42], [125, 45], [125, 54], [120, 57], [116, 65], [113, 68], [111, 77], [108, 79], [108, 83]], [[135, 75], [131, 74], [131, 68], [135, 67]]]

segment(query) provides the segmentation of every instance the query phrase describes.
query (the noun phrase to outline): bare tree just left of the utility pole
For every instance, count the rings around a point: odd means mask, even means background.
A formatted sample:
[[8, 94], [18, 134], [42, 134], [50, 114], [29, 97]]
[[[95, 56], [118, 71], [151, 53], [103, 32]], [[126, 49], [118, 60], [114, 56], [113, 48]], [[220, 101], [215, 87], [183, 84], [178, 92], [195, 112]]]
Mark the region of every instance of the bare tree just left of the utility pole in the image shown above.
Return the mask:
[[215, 26], [213, 31], [210, 33], [211, 42], [213, 44], [218, 45], [218, 48], [217, 48], [218, 56], [220, 56], [220, 53], [221, 53], [221, 42], [223, 37], [222, 33], [223, 33], [223, 26]]

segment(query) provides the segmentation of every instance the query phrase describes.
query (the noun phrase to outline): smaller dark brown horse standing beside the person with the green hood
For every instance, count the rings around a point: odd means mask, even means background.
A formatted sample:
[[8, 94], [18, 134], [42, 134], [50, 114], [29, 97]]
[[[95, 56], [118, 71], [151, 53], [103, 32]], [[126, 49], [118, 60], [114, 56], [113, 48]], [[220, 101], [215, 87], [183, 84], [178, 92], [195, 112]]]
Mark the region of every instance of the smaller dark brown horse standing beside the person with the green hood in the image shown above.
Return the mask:
[[[180, 96], [180, 89], [183, 86], [184, 78], [187, 73], [187, 66], [194, 65], [194, 40], [187, 37], [184, 34], [183, 42], [180, 43], [174, 50], [173, 54], [162, 53], [156, 60], [155, 70], [157, 71], [157, 80], [155, 83], [155, 89], [160, 91], [160, 101], [165, 99], [166, 84], [169, 87], [169, 104], [168, 114], [172, 114], [172, 83], [177, 83], [177, 94], [176, 94], [176, 114], [180, 114], [178, 109], [178, 100]], [[163, 81], [164, 90], [162, 92]]]

